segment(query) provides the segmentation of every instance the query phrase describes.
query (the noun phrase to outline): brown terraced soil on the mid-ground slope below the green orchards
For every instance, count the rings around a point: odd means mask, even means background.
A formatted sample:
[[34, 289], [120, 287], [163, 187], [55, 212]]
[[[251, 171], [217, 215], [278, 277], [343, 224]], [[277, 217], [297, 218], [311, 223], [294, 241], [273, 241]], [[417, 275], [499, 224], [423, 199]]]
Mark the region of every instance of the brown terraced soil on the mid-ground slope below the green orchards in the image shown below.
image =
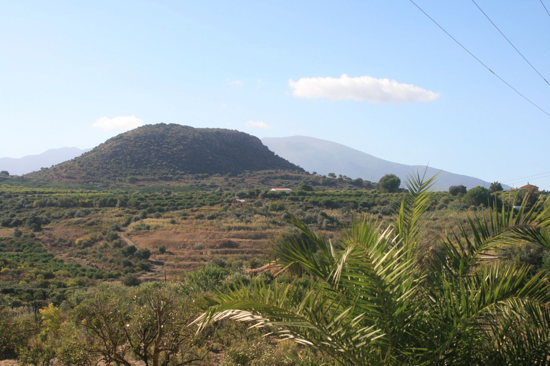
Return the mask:
[[[201, 207], [191, 210], [193, 215], [217, 212], [218, 207]], [[52, 222], [36, 233], [36, 239], [42, 243], [48, 252], [67, 262], [80, 263], [84, 267], [95, 267], [102, 271], [112, 271], [107, 261], [98, 261], [92, 256], [75, 255], [78, 250], [74, 246], [67, 246], [67, 240], [95, 235], [105, 232], [111, 226], [109, 220], [114, 217], [114, 210], [105, 210], [101, 216], [62, 219]], [[170, 223], [174, 218], [175, 223]], [[148, 221], [149, 220], [149, 221]], [[234, 219], [195, 219], [193, 216], [179, 217], [168, 214], [160, 219], [145, 219], [151, 224], [150, 230], [133, 229], [130, 225], [124, 232], [119, 232], [119, 238], [125, 245], [135, 245], [151, 251], [151, 271], [141, 274], [141, 279], [153, 279], [163, 276], [167, 272], [168, 278], [177, 278], [171, 273], [189, 271], [207, 264], [214, 257], [243, 260], [248, 267], [248, 260], [252, 257], [266, 258], [273, 238], [287, 230], [287, 226], [273, 223], [273, 220], [264, 217], [252, 217], [246, 222]], [[13, 235], [13, 229], [1, 229], [0, 235]], [[25, 232], [24, 232], [25, 234]], [[63, 243], [55, 245], [58, 238]], [[95, 246], [103, 245], [99, 241]], [[160, 254], [158, 248], [164, 245], [166, 252]], [[271, 269], [270, 269], [271, 271]]]

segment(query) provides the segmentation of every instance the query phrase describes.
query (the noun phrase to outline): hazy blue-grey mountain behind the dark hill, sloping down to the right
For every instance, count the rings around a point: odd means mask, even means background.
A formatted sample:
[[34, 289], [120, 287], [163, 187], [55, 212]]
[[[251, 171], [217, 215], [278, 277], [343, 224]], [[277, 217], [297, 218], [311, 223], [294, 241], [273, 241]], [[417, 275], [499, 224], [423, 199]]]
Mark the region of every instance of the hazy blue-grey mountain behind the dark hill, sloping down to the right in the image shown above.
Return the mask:
[[[265, 137], [262, 138], [262, 142], [284, 159], [294, 162], [309, 172], [315, 171], [319, 174], [336, 173], [378, 182], [384, 174], [393, 173], [403, 182], [409, 173], [417, 170], [422, 173], [426, 168], [422, 165], [405, 165], [379, 159], [342, 144], [306, 136]], [[431, 177], [439, 171], [437, 168], [428, 167], [427, 176]], [[488, 187], [490, 183], [482, 179], [442, 171], [439, 173], [435, 188], [448, 190], [450, 185], [459, 184], [473, 188], [476, 185]], [[504, 184], [503, 187], [508, 189]]]

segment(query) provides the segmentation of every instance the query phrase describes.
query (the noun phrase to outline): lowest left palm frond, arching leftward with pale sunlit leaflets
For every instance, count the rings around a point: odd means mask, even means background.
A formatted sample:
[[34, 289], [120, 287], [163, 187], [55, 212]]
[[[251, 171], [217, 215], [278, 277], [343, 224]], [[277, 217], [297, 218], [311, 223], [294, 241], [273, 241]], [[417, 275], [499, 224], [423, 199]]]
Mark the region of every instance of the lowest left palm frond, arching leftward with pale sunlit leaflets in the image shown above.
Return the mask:
[[363, 326], [354, 306], [343, 306], [338, 294], [324, 296], [326, 288], [311, 282], [305, 292], [296, 286], [266, 285], [254, 281], [250, 291], [242, 285], [219, 292], [218, 305], [204, 308], [195, 320], [201, 331], [222, 319], [248, 321], [252, 327], [270, 327], [273, 334], [330, 353], [335, 359], [356, 362], [356, 352], [383, 334], [375, 326]]

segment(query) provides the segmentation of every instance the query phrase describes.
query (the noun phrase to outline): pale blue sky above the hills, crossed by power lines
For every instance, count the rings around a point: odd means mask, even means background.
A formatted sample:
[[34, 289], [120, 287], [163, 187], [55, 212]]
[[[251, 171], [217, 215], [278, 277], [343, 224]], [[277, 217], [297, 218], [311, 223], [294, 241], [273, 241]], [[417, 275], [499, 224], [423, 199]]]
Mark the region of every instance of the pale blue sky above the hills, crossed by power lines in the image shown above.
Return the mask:
[[[550, 16], [541, 2], [476, 2], [550, 80]], [[550, 112], [550, 86], [474, 3], [416, 3]], [[301, 134], [403, 164], [550, 189], [550, 173], [540, 174], [550, 172], [550, 117], [409, 1], [2, 6], [0, 156], [94, 147], [139, 123], [165, 122], [260, 138]]]

